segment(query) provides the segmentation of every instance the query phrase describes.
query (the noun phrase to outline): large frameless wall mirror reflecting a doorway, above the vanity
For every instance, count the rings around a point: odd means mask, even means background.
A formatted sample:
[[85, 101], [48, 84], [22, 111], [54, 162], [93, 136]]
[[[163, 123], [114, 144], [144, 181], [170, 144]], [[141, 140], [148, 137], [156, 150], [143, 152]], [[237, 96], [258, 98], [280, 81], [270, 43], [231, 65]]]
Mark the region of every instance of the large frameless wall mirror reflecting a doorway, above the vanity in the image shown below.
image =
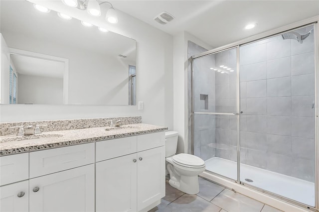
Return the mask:
[[135, 105], [136, 41], [1, 0], [1, 104]]

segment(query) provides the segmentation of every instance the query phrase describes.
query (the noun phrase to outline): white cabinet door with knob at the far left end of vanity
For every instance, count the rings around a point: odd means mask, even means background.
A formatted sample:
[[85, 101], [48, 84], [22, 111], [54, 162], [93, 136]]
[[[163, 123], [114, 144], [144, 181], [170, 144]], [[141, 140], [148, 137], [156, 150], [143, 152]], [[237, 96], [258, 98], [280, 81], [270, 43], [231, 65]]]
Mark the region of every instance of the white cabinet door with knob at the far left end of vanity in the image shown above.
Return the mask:
[[0, 187], [0, 212], [28, 212], [29, 183], [22, 181]]

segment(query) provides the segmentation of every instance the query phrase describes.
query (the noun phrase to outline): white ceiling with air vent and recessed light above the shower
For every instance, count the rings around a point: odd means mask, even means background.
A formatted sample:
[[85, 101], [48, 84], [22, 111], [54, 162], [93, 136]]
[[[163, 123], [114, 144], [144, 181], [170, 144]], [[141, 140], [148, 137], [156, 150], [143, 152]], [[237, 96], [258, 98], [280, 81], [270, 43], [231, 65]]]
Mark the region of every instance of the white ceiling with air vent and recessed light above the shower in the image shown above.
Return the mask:
[[[319, 0], [113, 0], [126, 12], [171, 35], [187, 31], [213, 47], [319, 15]], [[154, 20], [166, 11], [175, 19]], [[244, 26], [257, 22], [251, 30]]]

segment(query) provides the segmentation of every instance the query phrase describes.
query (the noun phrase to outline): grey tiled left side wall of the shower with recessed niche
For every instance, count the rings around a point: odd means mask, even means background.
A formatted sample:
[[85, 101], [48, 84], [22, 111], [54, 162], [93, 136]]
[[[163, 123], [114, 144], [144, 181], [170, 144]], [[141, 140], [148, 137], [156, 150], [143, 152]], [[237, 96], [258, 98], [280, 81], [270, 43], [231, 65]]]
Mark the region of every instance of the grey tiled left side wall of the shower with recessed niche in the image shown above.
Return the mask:
[[[193, 42], [188, 42], [189, 57], [203, 51], [206, 50]], [[207, 56], [193, 63], [194, 111], [215, 110], [215, 88], [212, 86], [215, 84], [215, 73], [209, 69], [214, 63], [213, 56]], [[194, 155], [203, 160], [215, 156], [215, 115], [194, 115]]]

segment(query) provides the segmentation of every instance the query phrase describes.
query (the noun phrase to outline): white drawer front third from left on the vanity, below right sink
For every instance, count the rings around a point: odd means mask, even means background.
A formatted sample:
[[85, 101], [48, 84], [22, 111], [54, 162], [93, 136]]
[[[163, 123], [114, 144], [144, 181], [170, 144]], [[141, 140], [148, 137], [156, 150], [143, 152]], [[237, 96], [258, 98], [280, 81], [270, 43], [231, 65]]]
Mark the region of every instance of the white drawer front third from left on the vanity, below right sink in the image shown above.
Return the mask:
[[96, 161], [135, 153], [136, 142], [136, 136], [96, 142]]

